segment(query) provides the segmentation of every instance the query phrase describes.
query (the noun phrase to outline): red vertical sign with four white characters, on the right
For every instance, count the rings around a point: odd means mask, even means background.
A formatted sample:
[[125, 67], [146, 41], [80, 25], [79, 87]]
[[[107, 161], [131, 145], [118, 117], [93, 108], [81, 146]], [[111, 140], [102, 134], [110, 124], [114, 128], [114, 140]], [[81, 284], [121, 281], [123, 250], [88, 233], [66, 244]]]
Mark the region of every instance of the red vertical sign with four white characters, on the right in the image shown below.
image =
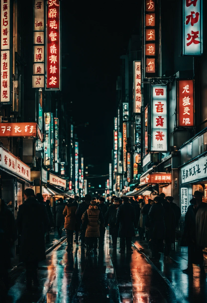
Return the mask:
[[178, 126], [194, 126], [193, 80], [178, 81]]

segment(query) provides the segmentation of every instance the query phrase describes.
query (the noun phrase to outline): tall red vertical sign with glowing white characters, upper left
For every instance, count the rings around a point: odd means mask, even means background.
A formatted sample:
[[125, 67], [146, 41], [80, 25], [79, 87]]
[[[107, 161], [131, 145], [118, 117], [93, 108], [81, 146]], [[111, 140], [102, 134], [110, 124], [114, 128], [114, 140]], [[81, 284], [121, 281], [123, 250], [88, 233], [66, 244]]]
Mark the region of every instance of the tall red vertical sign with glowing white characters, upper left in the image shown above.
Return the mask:
[[60, 1], [59, 0], [48, 0], [46, 20], [47, 20], [46, 89], [60, 90]]

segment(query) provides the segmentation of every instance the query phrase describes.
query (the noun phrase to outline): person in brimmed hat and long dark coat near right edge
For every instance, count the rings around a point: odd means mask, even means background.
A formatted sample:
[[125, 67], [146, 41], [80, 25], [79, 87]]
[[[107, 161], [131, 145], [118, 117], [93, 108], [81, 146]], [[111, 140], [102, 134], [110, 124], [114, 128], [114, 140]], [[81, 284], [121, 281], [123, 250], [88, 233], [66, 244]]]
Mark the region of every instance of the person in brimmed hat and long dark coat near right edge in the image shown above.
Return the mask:
[[[182, 236], [182, 242], [186, 241], [188, 246], [188, 267], [183, 270], [185, 274], [193, 273], [192, 264], [199, 264], [201, 273], [205, 274], [203, 267], [203, 247], [198, 245], [198, 235], [196, 237], [196, 216], [200, 208], [206, 207], [206, 203], [202, 202], [203, 193], [201, 191], [195, 191], [193, 199], [190, 201], [185, 215], [185, 227]], [[200, 221], [199, 225], [203, 222]], [[182, 245], [182, 243], [181, 243]]]

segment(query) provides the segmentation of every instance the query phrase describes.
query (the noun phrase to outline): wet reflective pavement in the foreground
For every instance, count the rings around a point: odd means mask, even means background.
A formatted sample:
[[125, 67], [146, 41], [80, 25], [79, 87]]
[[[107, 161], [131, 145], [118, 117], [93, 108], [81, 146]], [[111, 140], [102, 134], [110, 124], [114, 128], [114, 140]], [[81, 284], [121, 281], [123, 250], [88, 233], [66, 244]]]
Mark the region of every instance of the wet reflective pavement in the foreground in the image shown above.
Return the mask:
[[182, 273], [185, 252], [153, 263], [135, 247], [133, 253], [120, 254], [119, 243], [112, 248], [108, 230], [98, 255], [86, 257], [85, 252], [76, 244], [67, 250], [66, 241], [57, 245], [39, 263], [40, 285], [32, 293], [26, 290], [25, 269], [19, 266], [4, 302], [206, 302], [206, 278], [201, 279], [199, 268], [194, 267], [192, 278]]

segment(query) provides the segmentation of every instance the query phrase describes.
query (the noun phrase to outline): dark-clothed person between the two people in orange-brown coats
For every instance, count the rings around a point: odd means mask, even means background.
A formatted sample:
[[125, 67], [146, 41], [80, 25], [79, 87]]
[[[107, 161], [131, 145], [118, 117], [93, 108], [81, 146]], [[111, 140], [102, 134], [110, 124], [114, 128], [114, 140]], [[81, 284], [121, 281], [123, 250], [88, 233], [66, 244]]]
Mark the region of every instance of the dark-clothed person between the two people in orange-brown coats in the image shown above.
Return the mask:
[[86, 230], [84, 229], [84, 226], [82, 224], [82, 215], [85, 213], [85, 211], [88, 209], [91, 201], [91, 195], [86, 194], [85, 199], [82, 203], [78, 204], [78, 208], [76, 211], [76, 222], [78, 222], [81, 225], [81, 231], [80, 231], [80, 247], [86, 247], [85, 245], [85, 233]]

